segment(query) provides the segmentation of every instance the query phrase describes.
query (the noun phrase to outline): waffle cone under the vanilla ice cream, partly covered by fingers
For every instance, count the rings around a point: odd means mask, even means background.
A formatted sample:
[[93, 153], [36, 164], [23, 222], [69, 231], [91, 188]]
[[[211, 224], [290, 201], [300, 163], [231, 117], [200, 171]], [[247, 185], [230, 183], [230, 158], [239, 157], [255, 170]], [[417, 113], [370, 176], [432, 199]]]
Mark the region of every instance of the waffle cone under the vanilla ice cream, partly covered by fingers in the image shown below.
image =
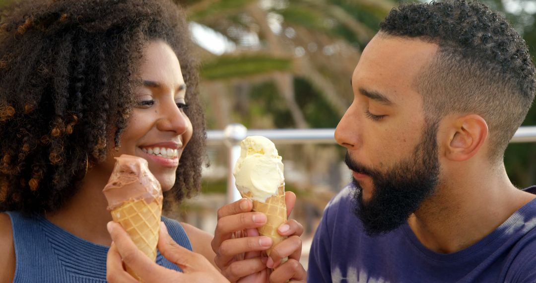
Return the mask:
[[242, 197], [250, 198], [253, 202], [253, 211], [262, 212], [266, 214], [266, 224], [257, 228], [260, 235], [270, 237], [273, 241], [272, 247], [266, 250], [266, 254], [270, 255], [274, 245], [278, 244], [282, 240], [285, 240], [287, 236], [281, 236], [277, 232], [277, 228], [287, 221], [287, 205], [285, 203], [285, 184], [279, 187], [277, 195], [269, 197], [266, 202], [259, 202], [252, 199], [251, 192], [242, 194]]

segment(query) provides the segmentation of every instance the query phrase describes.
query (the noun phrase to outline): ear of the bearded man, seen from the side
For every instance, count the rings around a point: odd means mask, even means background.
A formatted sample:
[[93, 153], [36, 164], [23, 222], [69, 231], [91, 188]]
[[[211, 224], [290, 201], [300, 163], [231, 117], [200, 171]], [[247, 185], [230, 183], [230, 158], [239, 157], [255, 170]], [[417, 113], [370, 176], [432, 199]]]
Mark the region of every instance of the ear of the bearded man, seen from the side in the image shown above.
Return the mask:
[[457, 118], [448, 130], [445, 145], [446, 158], [464, 161], [477, 154], [488, 136], [488, 124], [480, 115], [470, 114]]

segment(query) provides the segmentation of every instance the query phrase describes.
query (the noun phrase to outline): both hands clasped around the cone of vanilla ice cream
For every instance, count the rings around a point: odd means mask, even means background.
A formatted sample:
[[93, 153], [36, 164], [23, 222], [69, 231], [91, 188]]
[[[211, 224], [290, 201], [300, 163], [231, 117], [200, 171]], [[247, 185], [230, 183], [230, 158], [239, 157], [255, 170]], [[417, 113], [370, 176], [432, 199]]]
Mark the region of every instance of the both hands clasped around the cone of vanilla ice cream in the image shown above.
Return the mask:
[[[286, 192], [285, 200], [288, 216], [296, 196]], [[252, 208], [251, 200], [244, 198], [218, 210], [212, 249], [221, 272], [232, 282], [305, 282], [306, 271], [300, 264], [302, 225], [295, 220], [282, 224], [279, 234], [288, 238], [277, 244], [266, 258], [262, 251], [271, 247], [272, 240], [259, 236], [256, 229], [266, 223], [266, 215], [251, 212]], [[286, 257], [288, 260], [281, 264], [281, 259]]]

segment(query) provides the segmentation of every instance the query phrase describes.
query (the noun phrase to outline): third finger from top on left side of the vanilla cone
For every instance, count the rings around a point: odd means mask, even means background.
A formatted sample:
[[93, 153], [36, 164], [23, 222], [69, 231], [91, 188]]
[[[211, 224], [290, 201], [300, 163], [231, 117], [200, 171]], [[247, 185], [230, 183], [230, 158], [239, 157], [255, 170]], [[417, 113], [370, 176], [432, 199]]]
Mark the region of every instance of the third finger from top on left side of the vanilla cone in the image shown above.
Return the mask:
[[236, 255], [250, 251], [263, 251], [271, 247], [273, 241], [270, 237], [244, 237], [240, 239], [229, 239], [221, 243], [216, 252], [215, 258], [218, 266], [226, 266]]

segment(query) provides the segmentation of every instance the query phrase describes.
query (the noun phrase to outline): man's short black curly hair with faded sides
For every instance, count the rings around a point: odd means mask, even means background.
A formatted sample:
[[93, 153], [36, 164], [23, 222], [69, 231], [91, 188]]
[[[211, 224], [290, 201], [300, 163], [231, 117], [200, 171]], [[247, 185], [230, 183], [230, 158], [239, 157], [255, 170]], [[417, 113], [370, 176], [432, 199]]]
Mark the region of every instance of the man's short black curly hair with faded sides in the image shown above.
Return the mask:
[[414, 85], [430, 121], [476, 113], [489, 128], [490, 160], [500, 161], [534, 99], [536, 78], [527, 44], [500, 14], [478, 2], [405, 4], [380, 34], [438, 44]]

